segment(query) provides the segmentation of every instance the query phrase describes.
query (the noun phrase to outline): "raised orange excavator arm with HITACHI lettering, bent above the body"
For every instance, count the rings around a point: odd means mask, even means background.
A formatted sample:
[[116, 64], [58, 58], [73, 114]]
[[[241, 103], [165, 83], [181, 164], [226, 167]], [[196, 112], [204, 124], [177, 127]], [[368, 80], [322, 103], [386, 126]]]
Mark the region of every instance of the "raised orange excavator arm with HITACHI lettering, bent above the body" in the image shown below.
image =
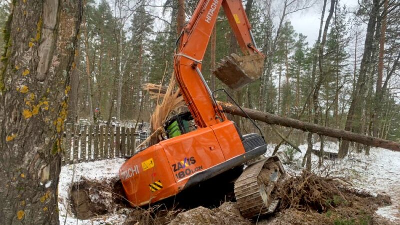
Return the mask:
[[[201, 73], [202, 60], [214, 28], [220, 7], [224, 8], [226, 17], [245, 56], [255, 55], [256, 60], [263, 59], [263, 54], [256, 48], [241, 0], [200, 0], [189, 23], [184, 27], [179, 37], [179, 46], [174, 57], [175, 76], [179, 83], [182, 95], [199, 127], [209, 127], [226, 120], [221, 107], [213, 100]], [[254, 58], [254, 56], [253, 56]], [[242, 78], [235, 79], [232, 71], [238, 71], [239, 76], [247, 78], [242, 68], [231, 70], [232, 64], [236, 67], [248, 67], [248, 62], [242, 62], [238, 56], [229, 59], [227, 67], [217, 71], [216, 75], [222, 81], [236, 80], [236, 84], [244, 83]], [[254, 62], [250, 60], [250, 64]], [[259, 66], [258, 66], [259, 67]], [[227, 69], [226, 69], [227, 68]], [[226, 72], [227, 71], [227, 72]], [[218, 75], [219, 72], [219, 75]], [[228, 74], [230, 73], [230, 74]], [[220, 75], [222, 74], [222, 75]], [[248, 80], [253, 80], [250, 77]], [[236, 85], [235, 84], [235, 85]], [[227, 85], [229, 85], [227, 83]], [[235, 87], [235, 85], [232, 85]]]

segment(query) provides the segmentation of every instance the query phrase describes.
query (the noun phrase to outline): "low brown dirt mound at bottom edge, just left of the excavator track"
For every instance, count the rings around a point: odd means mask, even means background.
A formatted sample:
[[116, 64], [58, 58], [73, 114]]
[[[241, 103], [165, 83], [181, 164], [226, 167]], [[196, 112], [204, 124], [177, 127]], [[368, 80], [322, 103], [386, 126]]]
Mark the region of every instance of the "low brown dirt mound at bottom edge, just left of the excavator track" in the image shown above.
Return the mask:
[[251, 224], [241, 216], [237, 204], [234, 202], [225, 202], [220, 207], [208, 209], [197, 207], [178, 214], [171, 221], [171, 225], [189, 225], [189, 224]]

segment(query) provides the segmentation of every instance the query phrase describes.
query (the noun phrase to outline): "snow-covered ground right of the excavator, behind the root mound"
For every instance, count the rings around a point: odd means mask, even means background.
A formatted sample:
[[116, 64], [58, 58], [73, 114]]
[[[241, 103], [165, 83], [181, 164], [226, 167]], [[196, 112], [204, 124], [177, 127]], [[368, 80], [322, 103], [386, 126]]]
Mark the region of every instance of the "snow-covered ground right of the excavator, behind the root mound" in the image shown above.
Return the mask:
[[[335, 142], [325, 142], [324, 150], [338, 152]], [[275, 145], [268, 146], [267, 155], [271, 155]], [[307, 144], [299, 146], [302, 153], [290, 147], [282, 146], [279, 152], [291, 155], [292, 165], [284, 165], [289, 174], [301, 172], [301, 162], [307, 150]], [[320, 142], [313, 149], [319, 149]], [[290, 157], [290, 156], [289, 156]], [[391, 221], [400, 222], [400, 152], [383, 148], [371, 148], [370, 155], [350, 152], [343, 160], [325, 160], [324, 166], [318, 168], [318, 156], [312, 154], [312, 169], [316, 173], [334, 172], [333, 176], [347, 177], [352, 180], [355, 188], [363, 189], [374, 194], [384, 194], [391, 197], [392, 205], [379, 208], [376, 213]]]

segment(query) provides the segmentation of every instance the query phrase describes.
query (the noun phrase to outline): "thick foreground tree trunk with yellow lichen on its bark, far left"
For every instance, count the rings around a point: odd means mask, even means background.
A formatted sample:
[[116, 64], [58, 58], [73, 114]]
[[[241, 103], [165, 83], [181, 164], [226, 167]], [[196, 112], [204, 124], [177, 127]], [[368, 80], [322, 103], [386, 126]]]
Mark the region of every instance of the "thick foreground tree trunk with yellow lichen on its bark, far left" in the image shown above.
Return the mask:
[[13, 1], [0, 62], [2, 224], [58, 224], [61, 137], [82, 1]]

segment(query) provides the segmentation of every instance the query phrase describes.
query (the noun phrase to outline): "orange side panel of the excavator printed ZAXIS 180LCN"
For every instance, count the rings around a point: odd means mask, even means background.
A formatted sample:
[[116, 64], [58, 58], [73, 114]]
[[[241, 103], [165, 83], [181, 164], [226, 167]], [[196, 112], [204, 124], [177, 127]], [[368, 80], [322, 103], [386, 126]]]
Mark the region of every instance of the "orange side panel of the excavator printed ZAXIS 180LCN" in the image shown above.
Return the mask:
[[165, 149], [173, 177], [180, 188], [193, 174], [225, 161], [211, 128], [200, 128], [160, 144]]

